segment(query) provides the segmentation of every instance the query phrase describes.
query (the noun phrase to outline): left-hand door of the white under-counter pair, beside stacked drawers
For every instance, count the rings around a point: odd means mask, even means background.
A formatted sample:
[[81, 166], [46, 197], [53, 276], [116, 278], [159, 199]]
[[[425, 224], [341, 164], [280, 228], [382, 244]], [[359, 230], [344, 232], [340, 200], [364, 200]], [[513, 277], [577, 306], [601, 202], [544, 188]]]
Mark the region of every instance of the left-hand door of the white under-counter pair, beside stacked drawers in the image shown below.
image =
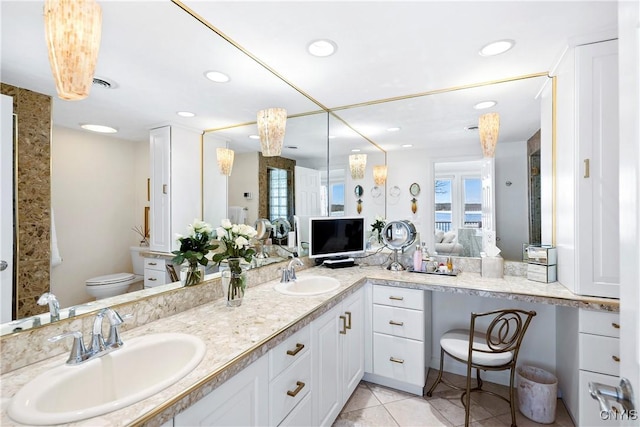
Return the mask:
[[341, 308], [332, 308], [311, 324], [313, 425], [331, 425], [342, 409]]

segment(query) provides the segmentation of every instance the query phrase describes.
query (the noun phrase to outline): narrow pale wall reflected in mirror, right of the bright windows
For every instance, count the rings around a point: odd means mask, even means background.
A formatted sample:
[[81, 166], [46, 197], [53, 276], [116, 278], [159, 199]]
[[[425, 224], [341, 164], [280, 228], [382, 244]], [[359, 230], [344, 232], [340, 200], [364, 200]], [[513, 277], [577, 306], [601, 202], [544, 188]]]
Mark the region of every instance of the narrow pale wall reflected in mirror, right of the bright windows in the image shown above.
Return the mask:
[[496, 245], [504, 259], [522, 260], [529, 241], [527, 142], [499, 144], [495, 162]]

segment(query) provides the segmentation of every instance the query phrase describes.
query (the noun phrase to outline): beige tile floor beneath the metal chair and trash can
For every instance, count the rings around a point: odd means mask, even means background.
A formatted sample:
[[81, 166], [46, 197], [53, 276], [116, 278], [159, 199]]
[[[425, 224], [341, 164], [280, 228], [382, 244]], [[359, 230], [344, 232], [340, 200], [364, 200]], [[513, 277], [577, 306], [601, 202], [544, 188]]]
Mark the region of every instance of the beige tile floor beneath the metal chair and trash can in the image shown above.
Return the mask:
[[[427, 384], [435, 380], [433, 369], [429, 371]], [[464, 377], [445, 373], [454, 384], [464, 384]], [[506, 396], [505, 386], [485, 382], [484, 389]], [[509, 404], [486, 393], [471, 395], [471, 426], [510, 426]], [[538, 424], [516, 413], [518, 427], [559, 426], [573, 427], [573, 421], [561, 400], [556, 408], [553, 424]], [[402, 391], [392, 390], [377, 384], [362, 381], [333, 424], [334, 427], [348, 426], [464, 426], [464, 407], [460, 402], [460, 392], [442, 384], [436, 388], [433, 397], [420, 397]]]

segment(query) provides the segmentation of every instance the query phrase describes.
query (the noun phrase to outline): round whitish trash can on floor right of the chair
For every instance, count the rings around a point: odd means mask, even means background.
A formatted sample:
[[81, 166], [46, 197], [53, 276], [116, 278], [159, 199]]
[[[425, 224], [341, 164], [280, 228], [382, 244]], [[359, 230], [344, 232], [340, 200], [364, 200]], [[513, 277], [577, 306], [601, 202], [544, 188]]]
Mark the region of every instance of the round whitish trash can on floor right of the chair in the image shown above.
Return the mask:
[[518, 407], [522, 415], [537, 423], [553, 423], [556, 419], [558, 379], [533, 366], [520, 366], [516, 373]]

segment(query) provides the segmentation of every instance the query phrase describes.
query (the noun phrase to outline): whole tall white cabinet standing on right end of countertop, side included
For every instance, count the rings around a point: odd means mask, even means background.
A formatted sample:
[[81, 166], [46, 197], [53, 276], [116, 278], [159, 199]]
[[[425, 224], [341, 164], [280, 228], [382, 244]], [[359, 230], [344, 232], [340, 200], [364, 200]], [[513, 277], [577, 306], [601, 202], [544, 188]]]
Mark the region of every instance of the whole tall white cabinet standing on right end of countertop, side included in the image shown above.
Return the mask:
[[617, 40], [576, 46], [557, 76], [558, 281], [619, 297]]

